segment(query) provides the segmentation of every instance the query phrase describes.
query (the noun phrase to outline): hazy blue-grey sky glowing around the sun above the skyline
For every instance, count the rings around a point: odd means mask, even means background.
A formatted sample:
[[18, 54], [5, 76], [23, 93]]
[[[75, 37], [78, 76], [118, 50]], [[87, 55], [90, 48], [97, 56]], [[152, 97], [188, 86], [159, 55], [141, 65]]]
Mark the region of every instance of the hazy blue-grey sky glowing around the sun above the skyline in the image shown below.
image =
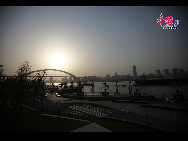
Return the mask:
[[[177, 67], [188, 71], [188, 7], [177, 6], [1, 6], [0, 64], [14, 75], [28, 61], [31, 69], [56, 68], [76, 76], [138, 75]], [[178, 29], [157, 19], [172, 16]], [[57, 62], [59, 62], [57, 59]], [[55, 63], [55, 62], [54, 62]]]

